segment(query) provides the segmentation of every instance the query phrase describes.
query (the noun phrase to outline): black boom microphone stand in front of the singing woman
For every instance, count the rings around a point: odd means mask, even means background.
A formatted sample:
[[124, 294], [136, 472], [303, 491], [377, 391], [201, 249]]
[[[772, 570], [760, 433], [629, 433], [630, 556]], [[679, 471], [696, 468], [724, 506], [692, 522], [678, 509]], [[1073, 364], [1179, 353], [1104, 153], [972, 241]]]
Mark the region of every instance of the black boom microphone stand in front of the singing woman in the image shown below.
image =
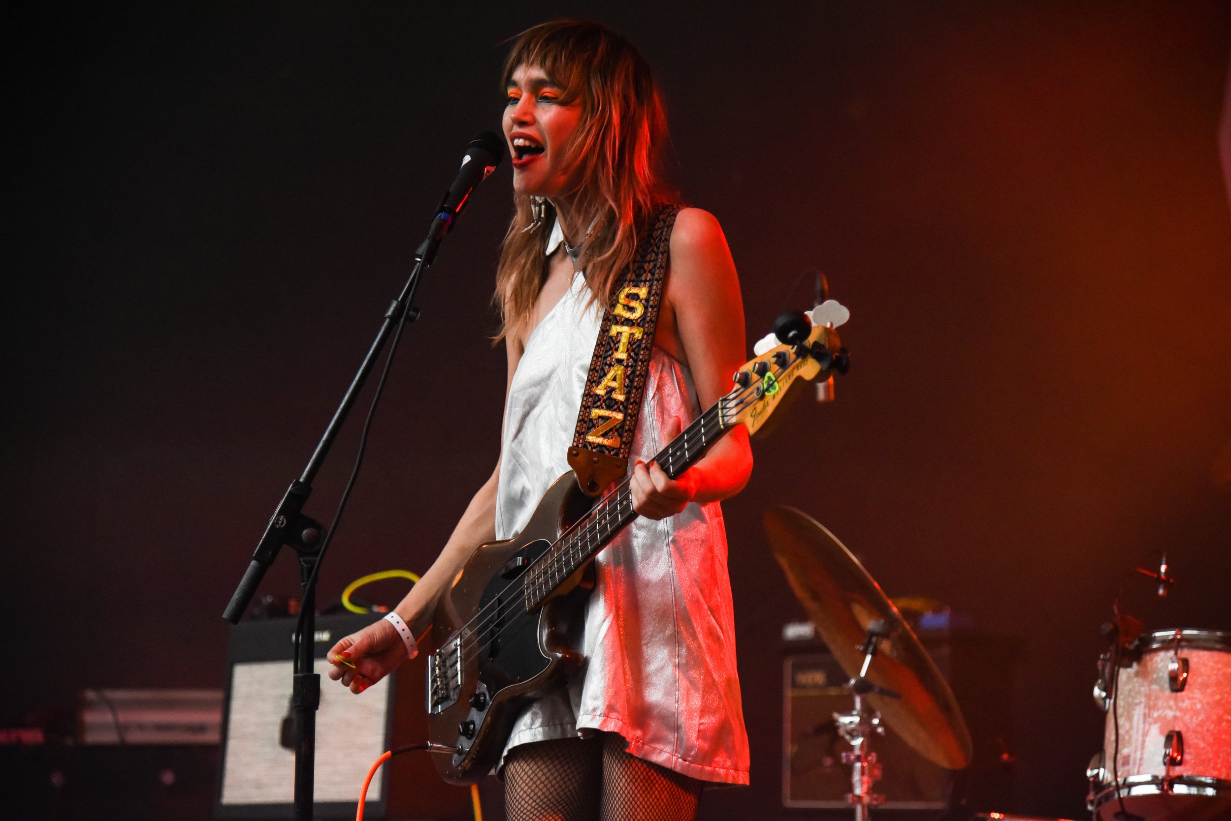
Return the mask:
[[[415, 249], [415, 265], [410, 270], [406, 284], [403, 285], [389, 307], [385, 308], [384, 321], [377, 332], [372, 347], [359, 364], [359, 370], [351, 386], [342, 396], [334, 418], [325, 428], [324, 435], [316, 444], [307, 467], [299, 478], [291, 483], [282, 501], [275, 508], [270, 516], [270, 524], [265, 527], [265, 535], [257, 542], [252, 560], [244, 573], [230, 603], [223, 611], [223, 618], [231, 624], [236, 624], [247, 610], [249, 602], [256, 594], [261, 579], [266, 570], [278, 557], [278, 551], [283, 544], [294, 548], [299, 554], [299, 581], [303, 589], [303, 599], [299, 611], [299, 629], [295, 632], [295, 656], [294, 680], [291, 691], [291, 705], [295, 717], [295, 792], [294, 792], [294, 819], [295, 821], [313, 821], [313, 800], [315, 793], [314, 776], [316, 763], [316, 709], [320, 707], [320, 676], [313, 672], [313, 648], [316, 637], [316, 578], [320, 572], [320, 563], [332, 533], [327, 533], [319, 521], [303, 513], [304, 503], [311, 495], [311, 483], [316, 473], [329, 456], [337, 434], [346, 422], [351, 408], [355, 406], [363, 383], [380, 358], [380, 352], [389, 340], [400, 336], [399, 323], [414, 322], [419, 318], [419, 308], [414, 306], [415, 291], [419, 289], [419, 280], [432, 262], [436, 259], [436, 251], [441, 240], [449, 231], [457, 210], [443, 208], [432, 220], [427, 238]], [[395, 333], [396, 332], [396, 333]], [[390, 356], [393, 353], [390, 352]], [[379, 396], [373, 398], [373, 403]], [[353, 474], [352, 474], [353, 481]], [[345, 501], [345, 494], [343, 494]], [[341, 508], [339, 509], [341, 513]], [[336, 519], [335, 519], [336, 521]]]

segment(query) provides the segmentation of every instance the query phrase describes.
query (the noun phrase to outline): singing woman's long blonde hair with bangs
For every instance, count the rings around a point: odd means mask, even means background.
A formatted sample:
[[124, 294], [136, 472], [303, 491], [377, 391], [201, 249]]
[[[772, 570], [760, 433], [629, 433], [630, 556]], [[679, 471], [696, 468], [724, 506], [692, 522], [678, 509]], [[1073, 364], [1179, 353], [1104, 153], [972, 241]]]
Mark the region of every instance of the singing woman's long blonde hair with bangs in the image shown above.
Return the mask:
[[[575, 181], [577, 225], [592, 225], [577, 259], [595, 300], [606, 305], [633, 262], [655, 209], [676, 202], [661, 173], [667, 143], [662, 95], [633, 45], [599, 23], [558, 20], [522, 32], [505, 60], [501, 91], [518, 66], [538, 66], [561, 88], [561, 103], [580, 102], [581, 118], [566, 147]], [[529, 321], [547, 275], [544, 248], [555, 214], [531, 229], [531, 199], [515, 194], [516, 211], [500, 253], [495, 300], [503, 326], [497, 340]]]

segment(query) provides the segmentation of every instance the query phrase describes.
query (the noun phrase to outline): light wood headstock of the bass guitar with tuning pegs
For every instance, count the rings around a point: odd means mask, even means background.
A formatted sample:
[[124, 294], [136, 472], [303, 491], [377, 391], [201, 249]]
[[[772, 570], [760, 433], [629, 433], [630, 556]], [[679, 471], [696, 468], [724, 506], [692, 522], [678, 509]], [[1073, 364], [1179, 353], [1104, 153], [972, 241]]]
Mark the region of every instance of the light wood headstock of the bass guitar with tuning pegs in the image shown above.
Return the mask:
[[827, 300], [811, 312], [789, 311], [774, 322], [774, 332], [761, 339], [757, 356], [735, 372], [735, 388], [723, 397], [723, 425], [744, 424], [755, 434], [799, 380], [830, 379], [851, 367], [837, 326], [851, 312]]

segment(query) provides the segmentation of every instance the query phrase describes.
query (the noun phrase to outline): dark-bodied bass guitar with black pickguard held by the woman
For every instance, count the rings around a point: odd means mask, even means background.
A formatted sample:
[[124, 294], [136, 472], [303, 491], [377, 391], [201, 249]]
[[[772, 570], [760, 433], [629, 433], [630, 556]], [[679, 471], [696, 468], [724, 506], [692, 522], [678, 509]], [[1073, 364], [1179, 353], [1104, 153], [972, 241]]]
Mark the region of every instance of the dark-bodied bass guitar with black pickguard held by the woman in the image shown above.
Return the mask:
[[[836, 307], [835, 307], [836, 306]], [[735, 425], [756, 433], [790, 386], [848, 367], [835, 326], [849, 313], [828, 301], [784, 313], [769, 343], [736, 371], [731, 391], [654, 460], [671, 478]], [[757, 349], [768, 347], [766, 340]], [[583, 662], [580, 608], [595, 556], [636, 517], [625, 479], [595, 500], [572, 471], [544, 494], [515, 538], [475, 549], [441, 596], [432, 632], [448, 638], [427, 658], [431, 748], [447, 782], [473, 784], [500, 761], [522, 708]]]

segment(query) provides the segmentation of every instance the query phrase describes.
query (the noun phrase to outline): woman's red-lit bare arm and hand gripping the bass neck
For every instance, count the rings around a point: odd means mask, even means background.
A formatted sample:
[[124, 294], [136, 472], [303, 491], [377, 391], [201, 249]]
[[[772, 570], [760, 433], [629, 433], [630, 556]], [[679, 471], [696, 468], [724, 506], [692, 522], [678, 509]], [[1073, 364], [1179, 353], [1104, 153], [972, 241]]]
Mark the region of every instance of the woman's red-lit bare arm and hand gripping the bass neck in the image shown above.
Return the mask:
[[[745, 363], [744, 301], [726, 237], [713, 214], [686, 208], [671, 234], [666, 301], [683, 360], [692, 370], [697, 398], [708, 408], [731, 390], [731, 375]], [[678, 431], [668, 430], [673, 436]], [[689, 501], [719, 501], [744, 489], [752, 473], [748, 433], [737, 425], [678, 479], [657, 465], [633, 471], [633, 509], [649, 519], [672, 516]]]

